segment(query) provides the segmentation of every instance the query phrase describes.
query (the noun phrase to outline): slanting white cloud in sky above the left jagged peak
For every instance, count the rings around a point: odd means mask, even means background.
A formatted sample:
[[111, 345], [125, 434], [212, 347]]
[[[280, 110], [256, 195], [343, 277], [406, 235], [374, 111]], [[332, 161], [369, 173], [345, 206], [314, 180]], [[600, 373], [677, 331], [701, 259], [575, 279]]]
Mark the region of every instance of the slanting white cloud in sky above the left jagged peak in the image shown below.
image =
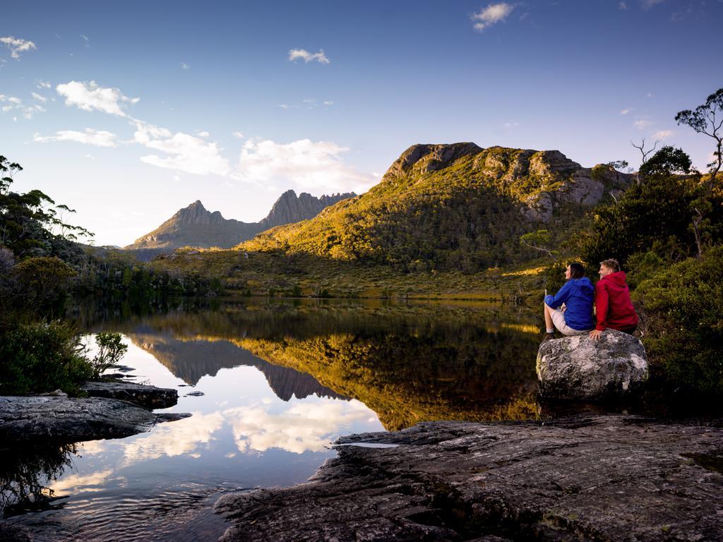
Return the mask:
[[140, 145], [158, 150], [163, 155], [146, 155], [141, 161], [158, 168], [175, 169], [196, 175], [226, 176], [229, 172], [228, 160], [221, 156], [220, 149], [215, 143], [204, 141], [183, 132], [172, 134], [166, 128], [146, 124], [142, 121], [133, 121], [136, 132], [133, 140]]

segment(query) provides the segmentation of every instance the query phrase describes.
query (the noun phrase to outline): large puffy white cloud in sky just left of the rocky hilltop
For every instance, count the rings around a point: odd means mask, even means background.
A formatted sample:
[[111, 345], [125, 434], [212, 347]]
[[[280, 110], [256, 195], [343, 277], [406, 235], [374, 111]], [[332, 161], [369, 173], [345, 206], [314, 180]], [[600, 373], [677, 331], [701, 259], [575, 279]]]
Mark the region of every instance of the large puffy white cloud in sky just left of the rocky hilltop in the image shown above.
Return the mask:
[[341, 155], [348, 148], [335, 142], [299, 139], [276, 143], [249, 139], [241, 147], [234, 177], [258, 184], [294, 181], [302, 188], [364, 192], [375, 179], [346, 165]]

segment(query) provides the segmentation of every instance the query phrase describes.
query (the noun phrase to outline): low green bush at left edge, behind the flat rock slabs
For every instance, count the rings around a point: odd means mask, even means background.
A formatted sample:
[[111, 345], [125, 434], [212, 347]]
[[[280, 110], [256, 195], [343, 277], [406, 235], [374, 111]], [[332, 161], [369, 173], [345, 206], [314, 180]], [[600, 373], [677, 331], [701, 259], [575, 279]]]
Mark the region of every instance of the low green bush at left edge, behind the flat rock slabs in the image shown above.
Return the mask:
[[78, 391], [93, 376], [79, 337], [67, 324], [33, 322], [0, 329], [0, 395]]

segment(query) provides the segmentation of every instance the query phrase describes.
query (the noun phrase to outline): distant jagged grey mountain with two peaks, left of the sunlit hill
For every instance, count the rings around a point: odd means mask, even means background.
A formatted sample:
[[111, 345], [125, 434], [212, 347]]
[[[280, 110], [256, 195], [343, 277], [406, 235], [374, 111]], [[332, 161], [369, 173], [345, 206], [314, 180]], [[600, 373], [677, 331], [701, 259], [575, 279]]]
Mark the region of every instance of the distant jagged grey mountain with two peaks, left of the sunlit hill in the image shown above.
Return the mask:
[[315, 197], [302, 192], [297, 197], [296, 192], [288, 190], [281, 194], [266, 218], [252, 223], [223, 218], [221, 212], [210, 212], [197, 200], [125, 249], [150, 250], [156, 253], [171, 251], [181, 246], [219, 246], [228, 249], [273, 226], [314, 218], [324, 207], [355, 195], [351, 193]]

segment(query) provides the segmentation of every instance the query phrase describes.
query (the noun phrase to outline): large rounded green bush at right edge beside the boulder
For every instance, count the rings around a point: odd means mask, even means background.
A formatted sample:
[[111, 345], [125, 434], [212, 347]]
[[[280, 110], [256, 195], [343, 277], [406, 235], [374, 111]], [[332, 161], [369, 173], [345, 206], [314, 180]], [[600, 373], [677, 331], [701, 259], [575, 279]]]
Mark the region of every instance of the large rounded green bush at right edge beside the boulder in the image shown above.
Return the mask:
[[633, 293], [651, 366], [674, 384], [723, 393], [723, 246], [672, 264]]

